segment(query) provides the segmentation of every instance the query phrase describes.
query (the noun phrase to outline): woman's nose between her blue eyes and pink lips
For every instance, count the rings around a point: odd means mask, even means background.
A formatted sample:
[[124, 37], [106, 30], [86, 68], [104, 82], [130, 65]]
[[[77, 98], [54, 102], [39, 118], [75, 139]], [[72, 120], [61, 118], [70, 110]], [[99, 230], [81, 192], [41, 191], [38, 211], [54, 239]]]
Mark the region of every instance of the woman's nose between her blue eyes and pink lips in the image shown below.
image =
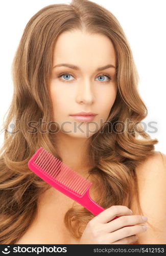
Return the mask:
[[92, 104], [94, 102], [94, 92], [92, 83], [86, 79], [78, 84], [76, 94], [77, 103]]

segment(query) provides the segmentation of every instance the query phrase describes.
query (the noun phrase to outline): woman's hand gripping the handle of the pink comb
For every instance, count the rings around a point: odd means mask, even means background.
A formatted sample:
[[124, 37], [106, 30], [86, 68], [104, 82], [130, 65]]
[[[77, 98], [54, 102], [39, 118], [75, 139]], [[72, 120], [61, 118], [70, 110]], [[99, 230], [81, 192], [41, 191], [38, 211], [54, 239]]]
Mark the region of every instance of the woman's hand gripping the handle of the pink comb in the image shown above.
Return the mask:
[[132, 215], [127, 206], [113, 205], [88, 222], [79, 244], [134, 243], [135, 234], [146, 231], [137, 224], [145, 222], [140, 215]]

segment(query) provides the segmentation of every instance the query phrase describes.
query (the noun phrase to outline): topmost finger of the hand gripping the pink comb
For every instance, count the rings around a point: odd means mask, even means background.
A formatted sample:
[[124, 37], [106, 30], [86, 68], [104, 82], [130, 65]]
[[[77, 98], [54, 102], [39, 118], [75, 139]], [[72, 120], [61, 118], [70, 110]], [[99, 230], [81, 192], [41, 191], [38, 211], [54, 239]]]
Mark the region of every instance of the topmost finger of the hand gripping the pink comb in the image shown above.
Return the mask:
[[105, 209], [104, 211], [102, 211], [96, 217], [94, 217], [93, 222], [107, 223], [113, 220], [116, 216], [131, 215], [131, 214], [132, 212], [127, 206], [113, 205]]

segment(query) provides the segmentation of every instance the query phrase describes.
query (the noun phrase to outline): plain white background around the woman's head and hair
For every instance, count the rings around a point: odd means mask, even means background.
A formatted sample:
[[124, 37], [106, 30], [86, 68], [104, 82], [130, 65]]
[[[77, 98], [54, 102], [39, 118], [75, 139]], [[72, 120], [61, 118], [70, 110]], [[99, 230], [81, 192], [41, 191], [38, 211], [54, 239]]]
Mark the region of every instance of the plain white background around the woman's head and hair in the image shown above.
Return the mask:
[[[166, 154], [165, 139], [165, 87], [166, 87], [166, 39], [165, 1], [158, 0], [92, 0], [111, 11], [120, 22], [128, 38], [139, 73], [139, 93], [148, 108], [148, 117], [143, 120], [152, 138], [159, 143], [155, 150]], [[0, 129], [8, 111], [12, 94], [11, 64], [29, 19], [41, 8], [51, 4], [69, 4], [65, 0], [2, 1], [1, 28], [1, 89], [0, 89]], [[157, 124], [148, 128], [148, 122]], [[0, 134], [0, 146], [4, 132]]]

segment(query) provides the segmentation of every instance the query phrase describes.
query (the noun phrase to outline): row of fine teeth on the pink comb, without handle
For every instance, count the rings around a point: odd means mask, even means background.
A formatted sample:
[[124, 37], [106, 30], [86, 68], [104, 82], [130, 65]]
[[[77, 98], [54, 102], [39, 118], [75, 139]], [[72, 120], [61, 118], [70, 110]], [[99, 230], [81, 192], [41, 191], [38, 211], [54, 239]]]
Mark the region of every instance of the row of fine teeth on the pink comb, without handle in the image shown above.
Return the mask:
[[68, 168], [58, 158], [55, 158], [44, 148], [36, 155], [35, 160], [31, 163], [45, 176], [52, 179], [54, 182], [64, 187], [68, 191], [82, 196], [91, 183], [85, 180], [81, 175], [74, 170]]

